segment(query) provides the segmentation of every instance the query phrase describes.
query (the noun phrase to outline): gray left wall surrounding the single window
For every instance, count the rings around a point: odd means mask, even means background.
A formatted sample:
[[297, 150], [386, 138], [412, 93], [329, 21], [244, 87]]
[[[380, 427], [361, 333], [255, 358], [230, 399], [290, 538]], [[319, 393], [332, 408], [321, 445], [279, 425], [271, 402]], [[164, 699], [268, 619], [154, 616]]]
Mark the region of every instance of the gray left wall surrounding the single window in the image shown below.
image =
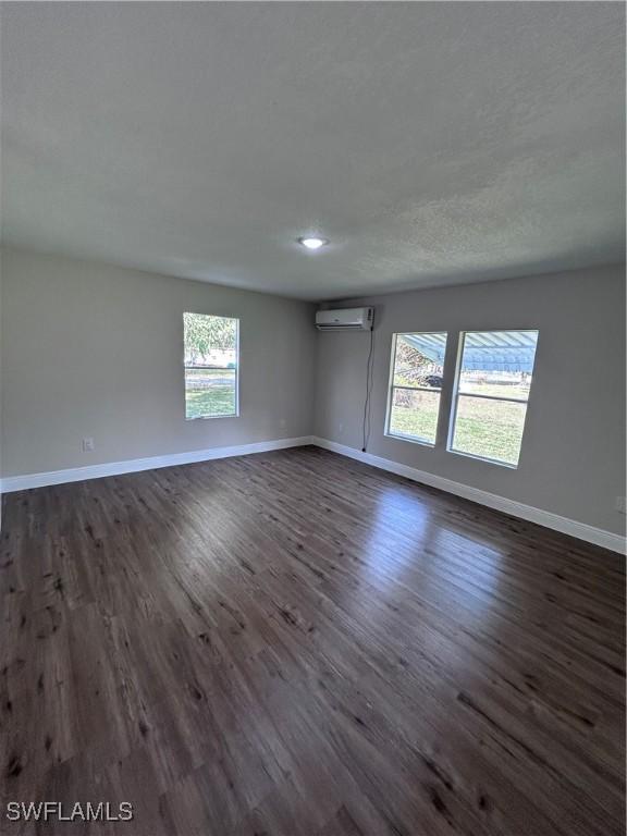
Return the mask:
[[[2, 476], [311, 433], [311, 305], [12, 249], [2, 268]], [[238, 418], [185, 420], [185, 310], [239, 318]]]

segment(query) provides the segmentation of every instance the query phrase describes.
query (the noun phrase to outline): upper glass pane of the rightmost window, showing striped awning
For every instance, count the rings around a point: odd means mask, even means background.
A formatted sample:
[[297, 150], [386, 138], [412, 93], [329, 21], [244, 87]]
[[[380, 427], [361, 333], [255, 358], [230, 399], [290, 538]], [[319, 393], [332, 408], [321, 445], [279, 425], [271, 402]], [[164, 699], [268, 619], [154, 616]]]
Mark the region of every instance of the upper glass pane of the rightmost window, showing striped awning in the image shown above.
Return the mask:
[[527, 401], [538, 331], [476, 331], [464, 337], [458, 391]]

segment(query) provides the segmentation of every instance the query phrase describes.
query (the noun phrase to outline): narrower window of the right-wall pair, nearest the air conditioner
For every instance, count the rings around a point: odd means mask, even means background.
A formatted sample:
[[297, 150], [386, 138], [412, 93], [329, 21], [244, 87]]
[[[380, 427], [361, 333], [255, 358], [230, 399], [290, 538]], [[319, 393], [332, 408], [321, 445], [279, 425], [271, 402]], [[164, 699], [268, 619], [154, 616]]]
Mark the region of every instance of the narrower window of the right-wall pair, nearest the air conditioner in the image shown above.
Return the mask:
[[445, 333], [394, 334], [388, 435], [435, 444]]

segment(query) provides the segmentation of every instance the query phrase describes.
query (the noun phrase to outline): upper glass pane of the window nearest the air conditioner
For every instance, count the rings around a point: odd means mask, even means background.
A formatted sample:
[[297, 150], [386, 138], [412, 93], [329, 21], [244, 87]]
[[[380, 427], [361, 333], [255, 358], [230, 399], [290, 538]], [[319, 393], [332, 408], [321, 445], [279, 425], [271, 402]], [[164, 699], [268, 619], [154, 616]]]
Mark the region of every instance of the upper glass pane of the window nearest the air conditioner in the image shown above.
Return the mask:
[[441, 389], [445, 351], [445, 333], [397, 334], [394, 385]]

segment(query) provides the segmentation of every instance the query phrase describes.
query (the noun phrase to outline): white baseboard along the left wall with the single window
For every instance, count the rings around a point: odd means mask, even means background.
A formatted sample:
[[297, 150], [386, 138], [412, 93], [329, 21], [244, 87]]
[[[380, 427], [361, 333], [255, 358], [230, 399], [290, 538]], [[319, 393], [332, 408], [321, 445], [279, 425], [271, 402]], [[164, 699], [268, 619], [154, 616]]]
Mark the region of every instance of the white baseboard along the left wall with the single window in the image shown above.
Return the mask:
[[110, 462], [103, 465], [72, 467], [66, 470], [50, 470], [46, 474], [25, 474], [24, 476], [8, 476], [0, 480], [1, 492], [25, 491], [30, 488], [44, 488], [48, 484], [64, 482], [82, 482], [85, 479], [100, 479], [104, 476], [134, 474], [139, 470], [153, 470], [159, 467], [173, 465], [189, 465], [193, 462], [209, 462], [212, 458], [229, 458], [230, 456], [247, 456], [250, 453], [268, 453], [271, 450], [300, 447], [312, 444], [310, 435], [297, 439], [276, 439], [275, 441], [258, 441], [254, 444], [237, 444], [231, 447], [209, 447], [192, 450], [187, 453], [172, 453], [168, 456], [149, 456], [148, 458], [131, 458], [125, 462]]

